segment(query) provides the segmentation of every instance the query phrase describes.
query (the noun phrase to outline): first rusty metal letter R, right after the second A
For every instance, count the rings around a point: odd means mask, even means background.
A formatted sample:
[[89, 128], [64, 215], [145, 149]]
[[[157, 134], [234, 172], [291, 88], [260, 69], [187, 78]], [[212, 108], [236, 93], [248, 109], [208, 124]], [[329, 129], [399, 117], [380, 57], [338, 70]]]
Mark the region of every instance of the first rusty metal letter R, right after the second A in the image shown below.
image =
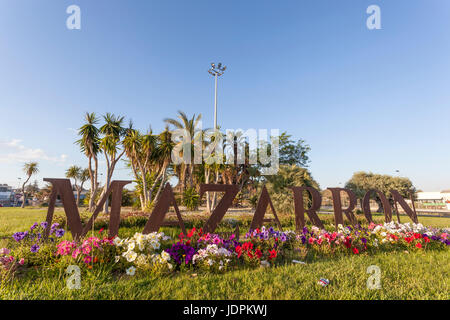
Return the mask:
[[[294, 192], [295, 228], [297, 232], [301, 232], [305, 227], [305, 212], [308, 214], [309, 220], [311, 220], [315, 226], [323, 229], [323, 223], [316, 212], [320, 209], [320, 205], [322, 204], [320, 192], [312, 187], [292, 187], [291, 189]], [[311, 206], [309, 209], [305, 209], [303, 191], [307, 191], [310, 195]]]

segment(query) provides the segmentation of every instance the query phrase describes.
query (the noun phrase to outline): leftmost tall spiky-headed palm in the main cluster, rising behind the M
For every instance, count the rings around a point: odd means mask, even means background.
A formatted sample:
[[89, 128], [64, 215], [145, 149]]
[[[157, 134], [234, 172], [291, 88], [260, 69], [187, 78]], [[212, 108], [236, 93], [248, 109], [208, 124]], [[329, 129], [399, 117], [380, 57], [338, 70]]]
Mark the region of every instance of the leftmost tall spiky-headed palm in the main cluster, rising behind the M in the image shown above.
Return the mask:
[[[80, 146], [81, 151], [89, 159], [89, 180], [91, 181], [91, 197], [89, 199], [89, 211], [95, 209], [95, 194], [98, 187], [98, 152], [100, 151], [100, 137], [99, 129], [96, 127], [98, 118], [95, 113], [86, 113], [86, 124], [79, 130], [78, 134], [81, 136], [76, 143]], [[92, 160], [94, 161], [94, 169], [92, 169]]]

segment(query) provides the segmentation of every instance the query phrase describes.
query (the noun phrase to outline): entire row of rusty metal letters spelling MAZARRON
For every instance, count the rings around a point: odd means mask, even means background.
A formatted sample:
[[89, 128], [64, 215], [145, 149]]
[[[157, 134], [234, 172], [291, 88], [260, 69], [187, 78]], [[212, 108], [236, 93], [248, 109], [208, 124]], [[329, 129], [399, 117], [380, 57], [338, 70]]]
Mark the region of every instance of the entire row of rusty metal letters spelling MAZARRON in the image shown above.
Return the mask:
[[[69, 179], [44, 179], [44, 181], [50, 182], [53, 185], [52, 193], [50, 195], [50, 202], [47, 211], [47, 222], [48, 226], [44, 232], [44, 236], [48, 237], [50, 232], [50, 226], [53, 220], [53, 214], [55, 211], [56, 198], [59, 195], [61, 197], [61, 201], [64, 206], [64, 210], [67, 216], [67, 225], [72, 232], [72, 236], [74, 239], [78, 239], [84, 237], [92, 228], [94, 220], [97, 218], [100, 210], [103, 208], [107, 197], [112, 193], [112, 204], [111, 204], [111, 213], [109, 220], [109, 236], [114, 237], [119, 233], [120, 226], [120, 209], [122, 202], [122, 190], [125, 185], [131, 183], [131, 181], [112, 181], [111, 186], [107, 189], [106, 193], [100, 199], [97, 207], [92, 214], [89, 221], [83, 226], [80, 218], [80, 213], [78, 211], [78, 207], [75, 201], [75, 196], [72, 191], [72, 185]], [[322, 196], [320, 192], [312, 187], [292, 187], [291, 188], [294, 193], [294, 206], [295, 206], [295, 227], [297, 232], [301, 232], [303, 227], [305, 227], [305, 213], [308, 215], [309, 220], [317, 227], [324, 228], [322, 221], [317, 215], [317, 211], [320, 209], [322, 204]], [[355, 194], [348, 189], [343, 188], [329, 188], [333, 197], [333, 207], [334, 207], [334, 216], [335, 223], [343, 224], [344, 218], [342, 213], [345, 213], [347, 219], [355, 224], [356, 218], [353, 214], [353, 210], [356, 207], [356, 196]], [[228, 208], [233, 203], [234, 198], [239, 192], [239, 186], [237, 185], [224, 185], [224, 184], [202, 184], [200, 185], [200, 198], [207, 191], [210, 192], [225, 192], [222, 199], [217, 204], [216, 208], [213, 210], [211, 217], [206, 221], [203, 230], [204, 232], [212, 233], [216, 230], [220, 221], [222, 221], [225, 213]], [[305, 198], [304, 192], [306, 191], [307, 196], [309, 198], [310, 206], [309, 208], [305, 208]], [[350, 205], [346, 209], [342, 209], [342, 201], [341, 201], [341, 192], [344, 191], [347, 193], [350, 199]], [[392, 210], [389, 200], [386, 196], [379, 190], [369, 190], [363, 199], [363, 209], [364, 215], [367, 221], [373, 222], [372, 214], [370, 212], [370, 197], [372, 193], [376, 193], [379, 199], [382, 202], [385, 220], [386, 222], [390, 222], [392, 220]], [[418, 223], [417, 214], [415, 210], [413, 211], [400, 193], [396, 190], [391, 190], [391, 195], [394, 201], [394, 204], [397, 202], [403, 208], [403, 210], [408, 214], [411, 220], [414, 223]], [[147, 221], [143, 233], [157, 232], [159, 228], [162, 226], [164, 218], [169, 210], [170, 206], [173, 205], [175, 212], [178, 218], [178, 224], [184, 234], [186, 234], [186, 229], [184, 226], [183, 219], [181, 217], [180, 211], [178, 209], [177, 203], [175, 201], [175, 196], [173, 194], [172, 187], [170, 184], [166, 184], [163, 192], [161, 193], [161, 197], [158, 199], [155, 208], [152, 211], [152, 214]], [[267, 206], [270, 205], [272, 212], [275, 216], [275, 221], [277, 222], [279, 228], [281, 229], [281, 223], [278, 219], [277, 213], [273, 206], [272, 200], [270, 199], [269, 193], [267, 192], [266, 187], [264, 186], [261, 192], [261, 196], [258, 200], [258, 204], [256, 207], [256, 211], [250, 226], [250, 230], [254, 230], [256, 228], [262, 227], [264, 223], [264, 216], [267, 211]]]

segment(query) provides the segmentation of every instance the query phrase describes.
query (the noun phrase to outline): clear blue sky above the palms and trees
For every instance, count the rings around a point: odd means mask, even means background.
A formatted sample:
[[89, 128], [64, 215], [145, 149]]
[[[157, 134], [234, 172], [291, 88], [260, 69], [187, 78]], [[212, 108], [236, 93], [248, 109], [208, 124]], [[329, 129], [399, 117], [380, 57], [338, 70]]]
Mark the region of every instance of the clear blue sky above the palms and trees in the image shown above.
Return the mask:
[[40, 182], [86, 166], [86, 111], [159, 131], [180, 109], [211, 127], [219, 61], [221, 127], [305, 139], [322, 188], [360, 170], [450, 188], [447, 0], [0, 0], [0, 183], [30, 160]]

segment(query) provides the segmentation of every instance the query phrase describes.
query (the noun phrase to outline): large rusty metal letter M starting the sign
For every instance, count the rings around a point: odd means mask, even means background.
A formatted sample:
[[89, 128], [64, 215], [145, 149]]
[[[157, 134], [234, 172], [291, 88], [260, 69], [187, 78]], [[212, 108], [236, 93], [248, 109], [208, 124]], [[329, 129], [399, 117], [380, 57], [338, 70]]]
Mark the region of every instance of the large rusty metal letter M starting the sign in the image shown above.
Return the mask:
[[106, 199], [109, 197], [111, 192], [112, 204], [111, 204], [111, 216], [109, 222], [109, 236], [117, 235], [119, 231], [120, 224], [120, 208], [122, 204], [122, 190], [123, 187], [131, 181], [112, 181], [110, 187], [106, 190], [106, 193], [100, 199], [92, 217], [89, 219], [88, 223], [83, 227], [81, 222], [80, 213], [75, 201], [75, 196], [72, 191], [72, 185], [69, 179], [44, 179], [44, 181], [50, 182], [53, 186], [52, 193], [50, 195], [50, 203], [48, 205], [47, 211], [47, 230], [45, 230], [45, 235], [48, 236], [50, 225], [53, 220], [53, 213], [55, 211], [56, 197], [59, 195], [64, 206], [64, 211], [67, 216], [67, 225], [72, 232], [72, 237], [74, 239], [84, 237], [89, 230], [92, 228], [94, 220], [97, 218], [100, 210], [102, 210]]

